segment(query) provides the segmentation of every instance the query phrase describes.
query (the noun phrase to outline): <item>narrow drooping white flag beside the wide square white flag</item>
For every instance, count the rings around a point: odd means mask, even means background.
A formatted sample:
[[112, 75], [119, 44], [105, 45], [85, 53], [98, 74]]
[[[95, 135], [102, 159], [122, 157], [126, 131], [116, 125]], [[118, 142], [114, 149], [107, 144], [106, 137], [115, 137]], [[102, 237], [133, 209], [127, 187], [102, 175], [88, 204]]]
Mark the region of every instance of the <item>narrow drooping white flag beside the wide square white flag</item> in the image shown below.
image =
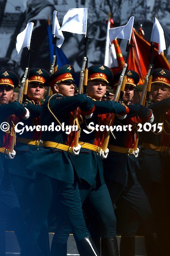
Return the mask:
[[53, 27], [52, 27], [52, 34], [57, 38], [57, 46], [61, 48], [65, 38], [63, 37], [62, 31], [59, 30], [59, 22], [57, 19], [57, 11], [53, 11]]

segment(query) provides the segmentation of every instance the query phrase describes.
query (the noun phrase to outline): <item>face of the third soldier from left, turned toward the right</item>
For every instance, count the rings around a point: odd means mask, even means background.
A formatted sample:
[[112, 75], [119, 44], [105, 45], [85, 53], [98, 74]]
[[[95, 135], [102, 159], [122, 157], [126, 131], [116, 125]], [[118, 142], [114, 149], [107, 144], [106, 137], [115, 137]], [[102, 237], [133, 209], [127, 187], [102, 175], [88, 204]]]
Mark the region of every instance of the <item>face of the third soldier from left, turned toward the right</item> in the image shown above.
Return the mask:
[[56, 84], [54, 89], [57, 93], [62, 94], [65, 97], [74, 96], [75, 85], [71, 82], [65, 82], [65, 84]]

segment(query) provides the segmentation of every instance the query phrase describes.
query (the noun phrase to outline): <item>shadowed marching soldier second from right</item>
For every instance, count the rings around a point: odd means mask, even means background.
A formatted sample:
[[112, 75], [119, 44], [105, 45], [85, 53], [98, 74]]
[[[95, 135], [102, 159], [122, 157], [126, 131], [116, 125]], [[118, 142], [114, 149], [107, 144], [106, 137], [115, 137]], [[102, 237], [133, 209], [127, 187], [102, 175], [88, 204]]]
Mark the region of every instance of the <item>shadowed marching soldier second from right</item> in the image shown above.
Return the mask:
[[[116, 85], [121, 72], [114, 77], [113, 85]], [[148, 203], [147, 196], [141, 185], [138, 183], [135, 175], [135, 156], [138, 152], [134, 151], [135, 141], [137, 139], [137, 125], [139, 122], [145, 123], [153, 121], [151, 110], [139, 105], [130, 105], [133, 98], [134, 88], [139, 82], [139, 76], [136, 72], [129, 70], [127, 73], [127, 81], [123, 96], [123, 101], [128, 104], [129, 109], [136, 109], [136, 113], [128, 116], [123, 120], [114, 119], [113, 125], [125, 126], [131, 125], [129, 129], [115, 131], [109, 141], [109, 156], [104, 161], [105, 181], [112, 198], [112, 203], [116, 203], [121, 196], [121, 200], [125, 201], [131, 210], [135, 210], [135, 217], [141, 217], [145, 226], [146, 249], [148, 255], [157, 255], [156, 249], [151, 253], [150, 248], [155, 247], [154, 234], [152, 234], [152, 211]], [[126, 216], [126, 215], [125, 215]], [[126, 217], [124, 218], [126, 219]], [[139, 216], [139, 217], [138, 217]], [[122, 227], [122, 237], [120, 243], [120, 255], [135, 255], [135, 233], [138, 229], [138, 222], [134, 220], [133, 224], [126, 221]], [[148, 237], [150, 241], [148, 242]], [[155, 253], [155, 254], [154, 254]]]

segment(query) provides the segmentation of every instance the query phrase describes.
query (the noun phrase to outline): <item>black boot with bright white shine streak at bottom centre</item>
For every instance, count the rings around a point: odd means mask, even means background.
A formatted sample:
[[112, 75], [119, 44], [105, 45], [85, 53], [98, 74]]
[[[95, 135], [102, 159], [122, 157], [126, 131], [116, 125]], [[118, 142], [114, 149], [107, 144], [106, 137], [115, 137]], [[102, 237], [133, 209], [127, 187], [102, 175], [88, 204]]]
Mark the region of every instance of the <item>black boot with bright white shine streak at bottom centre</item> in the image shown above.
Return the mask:
[[100, 256], [91, 237], [84, 237], [80, 241], [76, 241], [76, 246], [80, 256]]

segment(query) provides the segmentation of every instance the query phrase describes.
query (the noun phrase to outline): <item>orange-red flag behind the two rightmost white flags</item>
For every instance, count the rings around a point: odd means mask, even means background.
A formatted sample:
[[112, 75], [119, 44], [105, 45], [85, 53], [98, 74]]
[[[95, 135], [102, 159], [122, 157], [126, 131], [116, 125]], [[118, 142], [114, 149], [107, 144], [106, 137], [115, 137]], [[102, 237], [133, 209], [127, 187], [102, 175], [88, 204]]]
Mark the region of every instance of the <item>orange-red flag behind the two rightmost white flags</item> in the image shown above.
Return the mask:
[[[140, 36], [135, 29], [131, 34], [131, 44], [134, 46], [130, 50], [129, 54], [129, 69], [136, 71], [139, 74], [140, 81], [139, 84], [143, 84], [145, 81], [145, 76], [147, 74], [148, 67], [150, 65], [150, 46], [142, 35]], [[154, 59], [153, 59], [154, 69], [155, 68], [165, 68], [169, 70], [169, 63], [166, 57], [161, 53], [159, 55], [158, 49], [154, 49]]]

